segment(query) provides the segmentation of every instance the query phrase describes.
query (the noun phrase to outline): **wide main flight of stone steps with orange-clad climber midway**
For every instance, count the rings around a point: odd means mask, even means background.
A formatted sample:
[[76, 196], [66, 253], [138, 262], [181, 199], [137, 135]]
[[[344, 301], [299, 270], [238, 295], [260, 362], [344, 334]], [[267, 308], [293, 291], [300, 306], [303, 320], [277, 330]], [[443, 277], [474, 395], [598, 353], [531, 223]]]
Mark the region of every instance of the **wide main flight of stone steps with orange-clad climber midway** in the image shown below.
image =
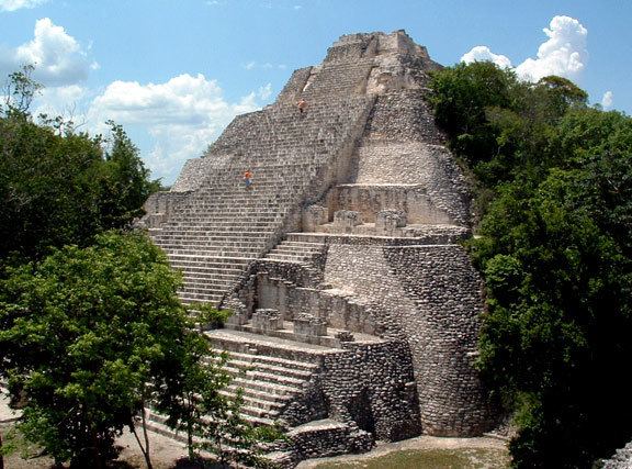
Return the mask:
[[[232, 154], [196, 191], [179, 202], [160, 227], [149, 230], [184, 276], [183, 302], [217, 303], [253, 259], [274, 245], [286, 219], [314, 190], [314, 180], [365, 119], [371, 100], [316, 104], [304, 116], [273, 105], [237, 119], [206, 158]], [[253, 172], [253, 186], [242, 182]]]

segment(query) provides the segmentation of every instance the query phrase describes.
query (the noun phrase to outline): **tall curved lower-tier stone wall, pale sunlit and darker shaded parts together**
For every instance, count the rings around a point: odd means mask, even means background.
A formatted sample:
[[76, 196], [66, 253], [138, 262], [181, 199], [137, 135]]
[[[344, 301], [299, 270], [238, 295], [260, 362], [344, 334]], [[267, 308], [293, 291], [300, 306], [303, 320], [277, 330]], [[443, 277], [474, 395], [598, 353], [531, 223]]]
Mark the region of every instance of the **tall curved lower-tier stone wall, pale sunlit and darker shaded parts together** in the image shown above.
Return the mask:
[[425, 433], [479, 434], [493, 407], [473, 368], [481, 279], [458, 245], [330, 245], [325, 281], [366, 299], [384, 336], [404, 337]]

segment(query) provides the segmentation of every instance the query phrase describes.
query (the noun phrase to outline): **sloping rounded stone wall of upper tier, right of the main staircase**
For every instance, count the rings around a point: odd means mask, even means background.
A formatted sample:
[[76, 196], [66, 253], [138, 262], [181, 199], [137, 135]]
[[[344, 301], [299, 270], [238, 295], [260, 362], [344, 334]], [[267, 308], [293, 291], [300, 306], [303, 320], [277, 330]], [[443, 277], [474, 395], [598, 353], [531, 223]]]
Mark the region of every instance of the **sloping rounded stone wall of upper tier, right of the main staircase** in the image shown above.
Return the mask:
[[419, 185], [431, 201], [430, 220], [469, 226], [470, 190], [442, 143], [421, 91], [380, 96], [357, 150], [352, 180], [359, 185]]

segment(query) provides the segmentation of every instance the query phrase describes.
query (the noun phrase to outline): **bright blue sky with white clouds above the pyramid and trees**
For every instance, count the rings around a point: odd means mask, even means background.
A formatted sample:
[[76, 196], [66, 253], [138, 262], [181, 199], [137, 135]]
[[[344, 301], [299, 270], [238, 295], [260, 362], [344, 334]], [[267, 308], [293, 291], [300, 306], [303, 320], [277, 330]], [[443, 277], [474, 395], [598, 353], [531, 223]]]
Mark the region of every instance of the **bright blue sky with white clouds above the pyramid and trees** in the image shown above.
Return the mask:
[[0, 79], [36, 63], [34, 111], [93, 133], [114, 119], [170, 183], [236, 114], [357, 32], [404, 29], [443, 65], [563, 75], [631, 114], [630, 20], [629, 0], [0, 0]]

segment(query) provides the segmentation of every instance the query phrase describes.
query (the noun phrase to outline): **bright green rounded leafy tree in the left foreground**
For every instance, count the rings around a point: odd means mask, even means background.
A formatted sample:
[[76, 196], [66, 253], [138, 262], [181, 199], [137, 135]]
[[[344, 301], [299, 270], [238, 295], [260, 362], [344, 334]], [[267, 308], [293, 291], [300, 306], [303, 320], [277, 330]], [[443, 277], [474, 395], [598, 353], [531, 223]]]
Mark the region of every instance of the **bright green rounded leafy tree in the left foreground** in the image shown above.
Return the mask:
[[169, 394], [183, 344], [198, 335], [179, 283], [142, 234], [105, 233], [90, 247], [10, 269], [0, 289], [0, 372], [24, 397], [20, 428], [30, 440], [77, 467], [115, 457], [114, 438]]

